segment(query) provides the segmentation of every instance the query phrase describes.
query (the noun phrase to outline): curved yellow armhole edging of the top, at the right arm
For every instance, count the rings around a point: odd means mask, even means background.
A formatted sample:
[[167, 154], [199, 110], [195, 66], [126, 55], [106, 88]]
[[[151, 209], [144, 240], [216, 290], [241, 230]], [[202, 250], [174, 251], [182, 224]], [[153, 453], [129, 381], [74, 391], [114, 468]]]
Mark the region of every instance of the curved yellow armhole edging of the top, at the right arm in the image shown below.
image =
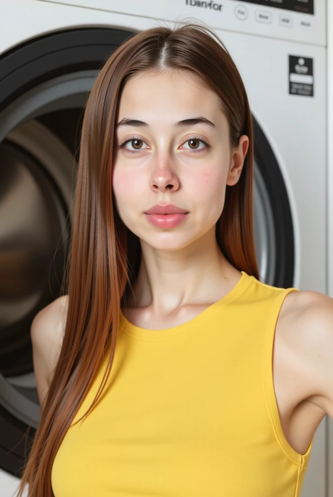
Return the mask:
[[264, 346], [262, 355], [262, 379], [264, 386], [264, 393], [266, 398], [266, 403], [268, 407], [268, 412], [272, 427], [277, 438], [277, 442], [280, 445], [286, 456], [295, 464], [301, 468], [306, 469], [310, 457], [311, 448], [313, 445], [313, 439], [305, 454], [299, 454], [294, 450], [289, 442], [284, 436], [280, 417], [277, 408], [277, 399], [274, 389], [274, 378], [273, 378], [273, 345], [274, 337], [277, 325], [277, 318], [280, 313], [282, 304], [285, 297], [293, 292], [298, 291], [297, 288], [287, 288], [282, 290], [273, 301], [273, 305], [269, 311], [268, 320], [266, 324], [265, 334], [264, 334]]

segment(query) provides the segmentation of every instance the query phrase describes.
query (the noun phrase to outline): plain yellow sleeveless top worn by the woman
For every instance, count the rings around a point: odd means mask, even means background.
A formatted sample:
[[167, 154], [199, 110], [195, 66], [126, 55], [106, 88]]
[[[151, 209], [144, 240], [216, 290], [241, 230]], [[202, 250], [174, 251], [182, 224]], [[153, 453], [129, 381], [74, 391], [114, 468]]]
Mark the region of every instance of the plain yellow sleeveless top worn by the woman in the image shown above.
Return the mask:
[[291, 291], [242, 271], [226, 296], [180, 326], [146, 330], [121, 314], [107, 391], [57, 451], [55, 497], [300, 496], [313, 439], [302, 455], [284, 437], [272, 369]]

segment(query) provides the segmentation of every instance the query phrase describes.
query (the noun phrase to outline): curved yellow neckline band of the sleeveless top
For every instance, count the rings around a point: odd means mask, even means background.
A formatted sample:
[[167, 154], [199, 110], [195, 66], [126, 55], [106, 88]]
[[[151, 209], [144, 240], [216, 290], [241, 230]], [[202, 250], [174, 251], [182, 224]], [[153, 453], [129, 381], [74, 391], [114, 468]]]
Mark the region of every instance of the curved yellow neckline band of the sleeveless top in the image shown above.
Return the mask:
[[222, 299], [218, 300], [214, 304], [207, 307], [200, 314], [178, 326], [172, 328], [164, 328], [163, 330], [147, 330], [146, 328], [140, 328], [136, 325], [130, 323], [127, 318], [123, 315], [120, 309], [120, 320], [119, 320], [119, 333], [123, 332], [126, 335], [132, 336], [140, 340], [168, 340], [181, 336], [183, 334], [192, 331], [199, 326], [204, 325], [207, 321], [212, 319], [215, 314], [224, 306], [239, 297], [249, 286], [253, 277], [249, 276], [245, 271], [241, 271], [242, 276], [235, 284], [235, 286], [230, 290], [229, 293], [224, 295]]

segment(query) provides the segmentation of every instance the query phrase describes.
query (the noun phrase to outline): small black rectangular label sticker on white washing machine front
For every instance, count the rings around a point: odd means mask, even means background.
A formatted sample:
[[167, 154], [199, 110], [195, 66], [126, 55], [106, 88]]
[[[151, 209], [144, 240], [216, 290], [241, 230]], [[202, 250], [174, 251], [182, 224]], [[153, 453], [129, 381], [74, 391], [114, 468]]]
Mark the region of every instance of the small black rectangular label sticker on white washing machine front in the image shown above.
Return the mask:
[[313, 96], [313, 59], [289, 55], [289, 94]]

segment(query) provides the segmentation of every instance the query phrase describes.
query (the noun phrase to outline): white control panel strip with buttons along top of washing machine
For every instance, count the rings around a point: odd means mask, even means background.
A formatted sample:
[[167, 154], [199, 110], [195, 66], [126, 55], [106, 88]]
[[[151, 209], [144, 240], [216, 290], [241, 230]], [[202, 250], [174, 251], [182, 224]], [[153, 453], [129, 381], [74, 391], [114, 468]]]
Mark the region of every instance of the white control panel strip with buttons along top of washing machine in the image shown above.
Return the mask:
[[44, 0], [326, 46], [327, 0]]

